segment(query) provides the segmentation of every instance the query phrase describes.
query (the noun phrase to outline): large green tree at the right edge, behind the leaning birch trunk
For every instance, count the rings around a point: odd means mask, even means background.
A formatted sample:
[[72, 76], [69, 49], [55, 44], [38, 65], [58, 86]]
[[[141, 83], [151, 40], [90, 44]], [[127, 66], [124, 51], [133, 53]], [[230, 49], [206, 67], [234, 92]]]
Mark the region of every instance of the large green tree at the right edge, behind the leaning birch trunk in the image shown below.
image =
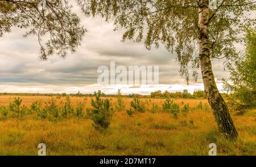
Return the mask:
[[229, 106], [242, 113], [256, 107], [256, 29], [247, 30], [246, 52], [229, 64], [230, 80], [224, 87], [229, 91]]

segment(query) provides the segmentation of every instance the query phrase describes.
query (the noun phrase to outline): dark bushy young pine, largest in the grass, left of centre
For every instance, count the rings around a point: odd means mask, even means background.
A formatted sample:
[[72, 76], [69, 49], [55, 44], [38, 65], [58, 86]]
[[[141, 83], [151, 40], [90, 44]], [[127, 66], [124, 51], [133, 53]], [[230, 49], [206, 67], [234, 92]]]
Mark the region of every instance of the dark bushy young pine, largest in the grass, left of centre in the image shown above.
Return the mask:
[[94, 93], [96, 99], [91, 100], [92, 109], [87, 109], [87, 114], [93, 120], [93, 127], [96, 130], [104, 130], [110, 125], [112, 117], [112, 104], [109, 99], [101, 99], [101, 91]]

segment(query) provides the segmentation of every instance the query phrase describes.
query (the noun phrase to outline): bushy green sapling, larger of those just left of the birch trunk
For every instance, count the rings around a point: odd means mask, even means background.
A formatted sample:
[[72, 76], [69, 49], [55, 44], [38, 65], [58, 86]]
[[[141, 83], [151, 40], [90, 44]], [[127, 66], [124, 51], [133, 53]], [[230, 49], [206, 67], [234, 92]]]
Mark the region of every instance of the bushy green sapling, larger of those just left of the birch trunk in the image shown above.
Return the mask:
[[177, 118], [177, 114], [180, 111], [179, 105], [177, 105], [177, 103], [174, 103], [174, 101], [170, 98], [166, 98], [162, 105], [162, 108], [164, 112], [172, 114], [174, 118]]

